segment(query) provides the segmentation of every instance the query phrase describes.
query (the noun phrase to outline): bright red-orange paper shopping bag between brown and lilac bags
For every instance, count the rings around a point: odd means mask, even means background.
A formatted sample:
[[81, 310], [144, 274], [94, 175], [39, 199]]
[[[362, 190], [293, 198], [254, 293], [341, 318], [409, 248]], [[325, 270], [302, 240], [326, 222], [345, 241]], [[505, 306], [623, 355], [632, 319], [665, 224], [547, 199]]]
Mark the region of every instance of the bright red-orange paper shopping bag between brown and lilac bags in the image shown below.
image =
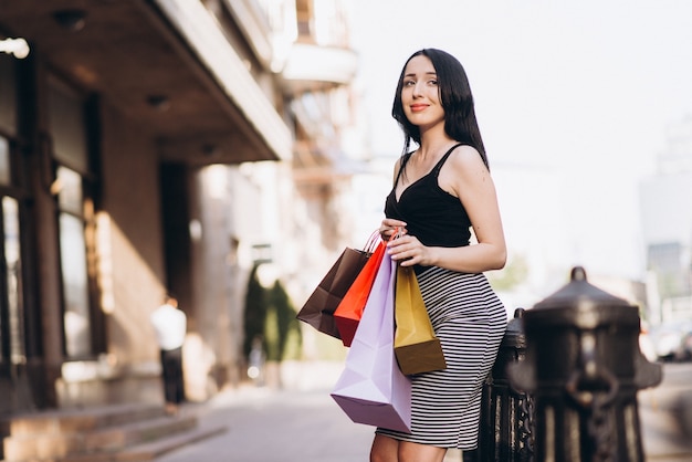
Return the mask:
[[379, 241], [375, 252], [373, 252], [334, 312], [334, 322], [345, 346], [349, 347], [353, 342], [385, 251], [385, 242]]

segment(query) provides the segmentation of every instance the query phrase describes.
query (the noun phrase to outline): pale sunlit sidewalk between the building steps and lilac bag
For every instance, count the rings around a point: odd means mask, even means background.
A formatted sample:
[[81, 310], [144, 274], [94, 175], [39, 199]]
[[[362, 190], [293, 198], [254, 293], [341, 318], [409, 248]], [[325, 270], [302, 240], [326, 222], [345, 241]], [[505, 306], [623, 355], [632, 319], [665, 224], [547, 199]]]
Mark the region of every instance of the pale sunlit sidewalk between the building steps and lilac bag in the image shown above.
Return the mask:
[[[228, 431], [157, 458], [157, 462], [366, 462], [374, 427], [354, 423], [329, 396], [342, 364], [284, 370], [284, 388], [244, 386], [181, 412], [200, 427]], [[445, 462], [460, 462], [450, 451]]]

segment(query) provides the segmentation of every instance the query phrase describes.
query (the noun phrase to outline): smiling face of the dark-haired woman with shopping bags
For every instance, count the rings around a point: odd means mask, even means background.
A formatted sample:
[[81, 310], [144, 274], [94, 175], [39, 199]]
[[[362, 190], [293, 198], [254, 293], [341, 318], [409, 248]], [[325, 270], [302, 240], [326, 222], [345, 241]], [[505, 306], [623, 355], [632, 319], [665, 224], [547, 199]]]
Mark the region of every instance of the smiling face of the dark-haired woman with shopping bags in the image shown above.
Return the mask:
[[444, 124], [438, 75], [428, 56], [415, 56], [406, 65], [401, 104], [408, 120], [421, 129]]

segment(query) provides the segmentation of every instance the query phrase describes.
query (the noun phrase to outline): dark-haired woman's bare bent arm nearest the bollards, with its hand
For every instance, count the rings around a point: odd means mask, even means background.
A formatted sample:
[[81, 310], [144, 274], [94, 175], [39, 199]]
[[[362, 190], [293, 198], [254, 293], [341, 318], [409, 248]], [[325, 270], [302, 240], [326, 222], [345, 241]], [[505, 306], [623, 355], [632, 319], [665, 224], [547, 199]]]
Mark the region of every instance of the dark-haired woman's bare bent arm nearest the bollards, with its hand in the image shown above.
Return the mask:
[[[438, 178], [442, 189], [463, 203], [478, 244], [461, 248], [424, 246], [411, 235], [391, 241], [389, 251], [401, 265], [441, 266], [464, 273], [500, 270], [506, 262], [506, 244], [497, 206], [495, 186], [479, 153], [459, 147]], [[390, 223], [388, 223], [390, 224]]]

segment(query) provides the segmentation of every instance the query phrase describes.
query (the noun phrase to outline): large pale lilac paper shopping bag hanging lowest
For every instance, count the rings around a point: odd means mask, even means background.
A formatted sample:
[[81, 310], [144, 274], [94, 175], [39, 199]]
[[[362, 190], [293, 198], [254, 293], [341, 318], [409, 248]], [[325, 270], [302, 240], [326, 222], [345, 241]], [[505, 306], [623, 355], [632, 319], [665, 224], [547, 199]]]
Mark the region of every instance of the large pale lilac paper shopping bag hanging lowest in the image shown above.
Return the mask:
[[395, 275], [385, 254], [332, 397], [354, 422], [410, 432], [411, 381], [394, 354]]

